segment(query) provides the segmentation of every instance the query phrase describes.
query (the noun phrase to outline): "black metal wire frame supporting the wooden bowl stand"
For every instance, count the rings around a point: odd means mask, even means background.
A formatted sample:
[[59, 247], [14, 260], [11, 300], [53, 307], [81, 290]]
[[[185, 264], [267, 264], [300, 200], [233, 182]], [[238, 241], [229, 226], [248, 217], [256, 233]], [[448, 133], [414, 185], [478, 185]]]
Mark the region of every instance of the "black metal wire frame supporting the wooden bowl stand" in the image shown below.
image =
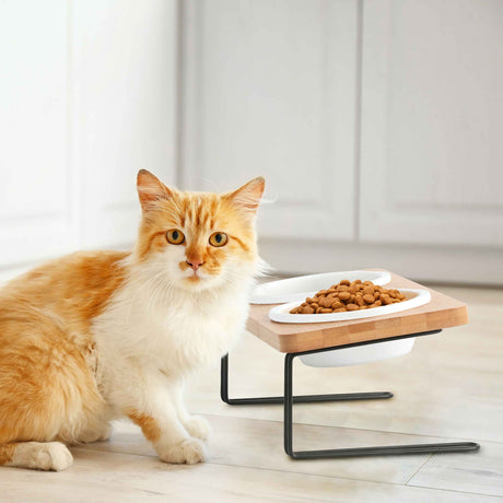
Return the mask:
[[257, 398], [229, 398], [229, 354], [222, 358], [220, 373], [220, 397], [230, 406], [253, 406], [253, 405], [276, 405], [284, 403], [284, 452], [293, 459], [318, 459], [318, 458], [338, 458], [338, 457], [356, 457], [356, 456], [385, 456], [398, 454], [432, 454], [432, 453], [453, 453], [478, 451], [479, 444], [475, 442], [451, 442], [440, 444], [412, 444], [412, 445], [386, 445], [376, 447], [353, 447], [337, 448], [324, 451], [294, 451], [293, 449], [293, 403], [313, 403], [323, 401], [347, 401], [347, 400], [370, 400], [391, 398], [393, 393], [346, 393], [335, 395], [302, 395], [293, 396], [293, 360], [303, 354], [321, 353], [326, 351], [339, 350], [344, 348], [354, 348], [390, 340], [407, 339], [410, 337], [430, 336], [438, 334], [442, 330], [430, 330], [419, 334], [409, 334], [406, 336], [391, 337], [365, 342], [355, 342], [352, 344], [337, 346], [334, 348], [324, 348], [299, 353], [286, 353], [284, 355], [284, 395], [282, 397], [257, 397]]

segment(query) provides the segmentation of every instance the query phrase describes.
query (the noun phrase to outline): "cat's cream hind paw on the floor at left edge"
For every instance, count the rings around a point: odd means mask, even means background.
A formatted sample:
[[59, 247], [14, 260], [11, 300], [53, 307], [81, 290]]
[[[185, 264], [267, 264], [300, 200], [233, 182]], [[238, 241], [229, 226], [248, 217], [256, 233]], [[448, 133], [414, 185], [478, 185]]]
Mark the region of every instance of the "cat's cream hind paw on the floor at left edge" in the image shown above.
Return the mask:
[[0, 465], [61, 471], [73, 457], [61, 442], [15, 442], [0, 445]]

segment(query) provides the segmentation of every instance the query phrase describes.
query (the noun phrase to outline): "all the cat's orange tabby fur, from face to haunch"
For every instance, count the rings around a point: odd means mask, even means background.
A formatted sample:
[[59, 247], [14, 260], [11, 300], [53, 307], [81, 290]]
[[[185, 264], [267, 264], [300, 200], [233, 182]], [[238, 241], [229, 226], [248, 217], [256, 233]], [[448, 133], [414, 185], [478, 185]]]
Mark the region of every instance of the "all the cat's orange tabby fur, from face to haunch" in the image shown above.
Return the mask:
[[[72, 444], [107, 435], [108, 421], [117, 410], [106, 402], [96, 375], [94, 321], [128, 283], [136, 266], [148, 264], [171, 246], [165, 237], [167, 229], [195, 230], [187, 241], [186, 257], [200, 259], [209, 277], [220, 273], [222, 260], [231, 254], [243, 260], [255, 259], [250, 222], [264, 180], [257, 178], [254, 184], [252, 196], [245, 188], [223, 196], [178, 192], [141, 171], [138, 190], [143, 218], [131, 253], [75, 253], [43, 265], [0, 290], [0, 465], [65, 469], [71, 455], [54, 454], [58, 447], [55, 441]], [[236, 206], [241, 206], [239, 211]], [[229, 246], [221, 248], [209, 247], [202, 234], [214, 226], [211, 219], [215, 214], [219, 229], [225, 229], [230, 236]], [[182, 271], [190, 268], [185, 259], [178, 267]], [[187, 285], [198, 281], [197, 276], [186, 279]], [[132, 407], [120, 412], [139, 424], [147, 438], [160, 438], [155, 418]], [[43, 444], [36, 442], [50, 444], [43, 452]], [[49, 460], [26, 461], [30, 449], [43, 452]], [[59, 456], [59, 460], [51, 461], [50, 456]]]

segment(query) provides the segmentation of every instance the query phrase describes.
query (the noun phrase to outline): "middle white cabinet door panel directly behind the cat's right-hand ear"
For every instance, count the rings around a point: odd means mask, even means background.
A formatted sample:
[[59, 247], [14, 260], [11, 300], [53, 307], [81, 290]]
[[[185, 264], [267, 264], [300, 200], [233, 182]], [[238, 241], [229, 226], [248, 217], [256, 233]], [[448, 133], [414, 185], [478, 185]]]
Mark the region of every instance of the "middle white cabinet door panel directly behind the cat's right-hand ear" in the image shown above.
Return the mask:
[[358, 2], [183, 5], [184, 187], [264, 175], [261, 237], [351, 239]]

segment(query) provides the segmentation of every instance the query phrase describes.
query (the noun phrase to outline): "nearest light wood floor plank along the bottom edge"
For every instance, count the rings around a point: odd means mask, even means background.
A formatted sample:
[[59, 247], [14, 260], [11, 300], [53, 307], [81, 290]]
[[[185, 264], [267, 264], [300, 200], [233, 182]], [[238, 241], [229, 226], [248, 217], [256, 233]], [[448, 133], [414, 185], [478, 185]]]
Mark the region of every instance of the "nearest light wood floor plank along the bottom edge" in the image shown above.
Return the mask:
[[219, 465], [171, 466], [154, 458], [73, 449], [75, 464], [47, 473], [2, 468], [5, 502], [495, 503], [501, 499], [407, 486]]

